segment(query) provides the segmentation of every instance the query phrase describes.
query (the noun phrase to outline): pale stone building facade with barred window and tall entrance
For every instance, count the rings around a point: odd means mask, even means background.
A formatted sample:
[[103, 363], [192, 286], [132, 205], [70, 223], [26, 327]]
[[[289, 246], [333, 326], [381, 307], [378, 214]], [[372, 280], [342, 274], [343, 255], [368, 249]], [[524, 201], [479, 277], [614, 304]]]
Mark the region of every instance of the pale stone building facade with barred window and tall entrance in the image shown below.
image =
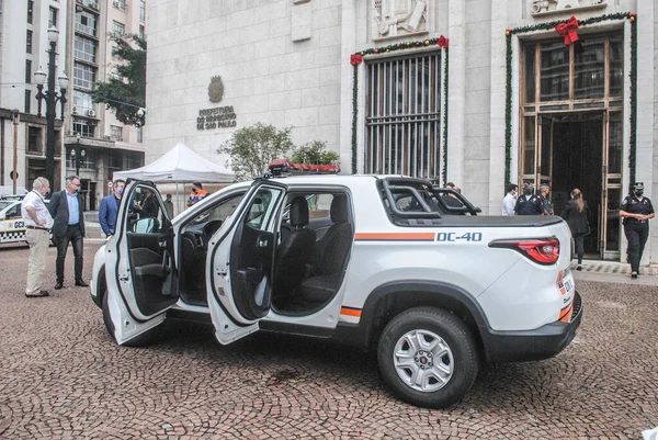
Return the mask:
[[[619, 205], [657, 198], [658, 8], [644, 0], [152, 0], [146, 161], [293, 126], [343, 172], [453, 181], [498, 214], [508, 182], [580, 188], [592, 258], [625, 260]], [[219, 93], [220, 91], [220, 93]], [[643, 262], [658, 262], [658, 221]], [[653, 245], [654, 244], [654, 245]]]

